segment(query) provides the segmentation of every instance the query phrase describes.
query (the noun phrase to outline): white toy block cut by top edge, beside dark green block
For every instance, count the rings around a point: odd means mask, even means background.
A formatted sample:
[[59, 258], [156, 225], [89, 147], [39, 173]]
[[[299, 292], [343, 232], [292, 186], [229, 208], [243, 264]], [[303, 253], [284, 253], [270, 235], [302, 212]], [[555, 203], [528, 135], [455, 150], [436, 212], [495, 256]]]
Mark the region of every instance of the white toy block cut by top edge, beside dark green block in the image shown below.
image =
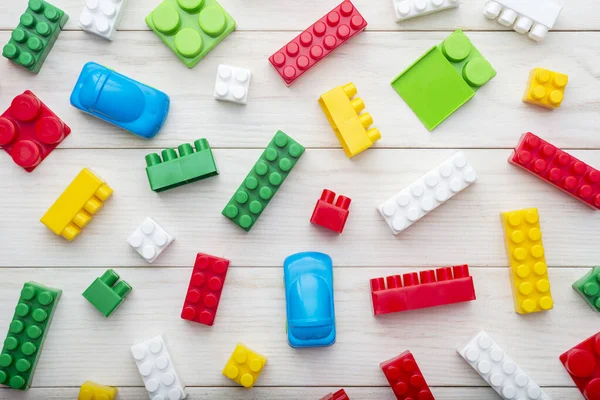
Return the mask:
[[79, 17], [79, 26], [107, 40], [113, 36], [121, 23], [126, 0], [85, 0]]

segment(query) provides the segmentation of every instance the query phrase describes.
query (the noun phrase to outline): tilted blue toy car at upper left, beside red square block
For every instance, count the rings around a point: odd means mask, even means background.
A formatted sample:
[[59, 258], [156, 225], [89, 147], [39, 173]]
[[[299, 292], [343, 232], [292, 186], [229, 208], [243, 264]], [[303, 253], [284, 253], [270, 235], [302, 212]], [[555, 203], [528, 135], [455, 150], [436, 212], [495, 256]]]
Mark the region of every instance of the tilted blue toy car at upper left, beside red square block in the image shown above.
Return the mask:
[[169, 113], [169, 96], [90, 62], [77, 79], [71, 105], [145, 139], [156, 136]]

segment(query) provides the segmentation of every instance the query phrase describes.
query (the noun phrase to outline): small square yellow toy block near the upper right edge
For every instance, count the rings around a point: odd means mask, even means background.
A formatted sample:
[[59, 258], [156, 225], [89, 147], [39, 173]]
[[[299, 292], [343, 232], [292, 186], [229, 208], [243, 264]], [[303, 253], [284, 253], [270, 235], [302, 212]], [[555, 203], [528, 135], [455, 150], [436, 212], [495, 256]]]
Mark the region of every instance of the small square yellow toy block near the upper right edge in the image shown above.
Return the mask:
[[565, 74], [535, 68], [529, 74], [523, 102], [554, 110], [560, 107], [568, 82], [569, 77]]

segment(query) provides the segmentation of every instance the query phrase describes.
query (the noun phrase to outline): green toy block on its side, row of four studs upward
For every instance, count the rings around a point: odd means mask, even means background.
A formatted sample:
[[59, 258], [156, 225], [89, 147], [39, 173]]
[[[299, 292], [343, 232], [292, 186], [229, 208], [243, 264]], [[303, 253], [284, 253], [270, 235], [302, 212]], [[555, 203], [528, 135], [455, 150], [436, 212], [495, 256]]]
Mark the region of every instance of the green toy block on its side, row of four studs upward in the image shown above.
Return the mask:
[[162, 159], [156, 153], [148, 154], [146, 174], [150, 189], [162, 192], [219, 175], [208, 140], [198, 139], [194, 147], [196, 152], [189, 143], [180, 145], [177, 148], [179, 157], [174, 149], [163, 150]]

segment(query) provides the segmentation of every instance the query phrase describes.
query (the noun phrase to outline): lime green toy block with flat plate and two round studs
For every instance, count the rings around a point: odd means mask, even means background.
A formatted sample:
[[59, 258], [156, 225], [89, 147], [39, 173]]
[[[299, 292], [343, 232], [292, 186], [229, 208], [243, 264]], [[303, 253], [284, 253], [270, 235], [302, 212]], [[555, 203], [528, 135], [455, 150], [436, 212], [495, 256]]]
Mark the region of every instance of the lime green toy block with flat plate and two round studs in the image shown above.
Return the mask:
[[490, 63], [457, 30], [398, 75], [392, 87], [431, 131], [494, 76]]

